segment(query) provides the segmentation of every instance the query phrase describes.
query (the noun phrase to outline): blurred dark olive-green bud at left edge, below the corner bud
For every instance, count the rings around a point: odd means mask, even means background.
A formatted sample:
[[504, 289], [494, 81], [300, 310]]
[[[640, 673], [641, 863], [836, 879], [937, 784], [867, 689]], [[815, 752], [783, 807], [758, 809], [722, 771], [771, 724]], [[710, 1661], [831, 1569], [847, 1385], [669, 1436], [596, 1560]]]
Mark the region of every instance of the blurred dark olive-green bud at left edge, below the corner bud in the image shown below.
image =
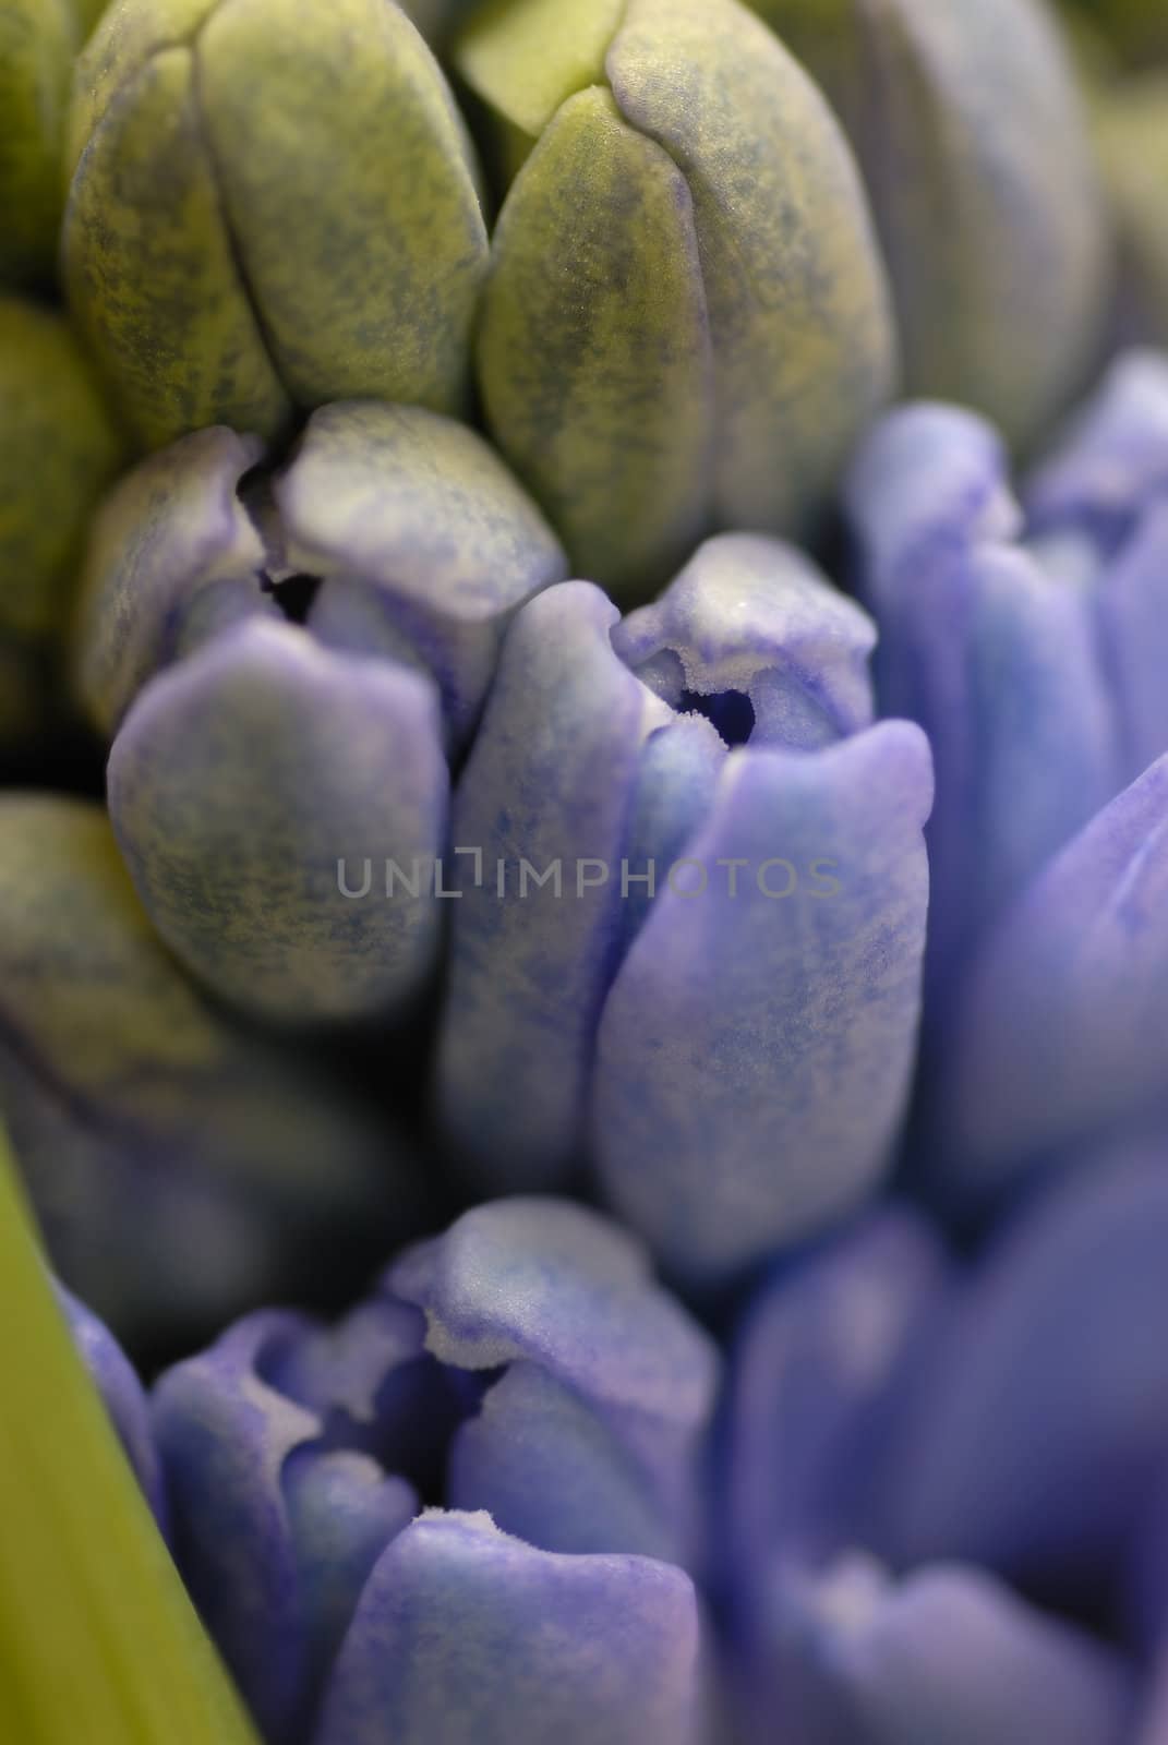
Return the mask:
[[65, 319], [2, 295], [0, 405], [2, 754], [51, 708], [86, 520], [122, 443]]

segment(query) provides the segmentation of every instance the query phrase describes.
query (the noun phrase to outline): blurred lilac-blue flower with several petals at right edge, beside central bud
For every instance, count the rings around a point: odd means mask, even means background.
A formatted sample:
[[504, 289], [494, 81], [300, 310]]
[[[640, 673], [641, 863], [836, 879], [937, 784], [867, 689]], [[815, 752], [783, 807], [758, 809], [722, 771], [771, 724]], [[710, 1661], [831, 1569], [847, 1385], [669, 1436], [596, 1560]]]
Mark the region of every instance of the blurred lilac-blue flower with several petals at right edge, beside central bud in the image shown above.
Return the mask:
[[910, 407], [849, 485], [885, 707], [938, 796], [936, 1178], [983, 1195], [1165, 1096], [1168, 368], [1119, 361], [1013, 494], [969, 414]]

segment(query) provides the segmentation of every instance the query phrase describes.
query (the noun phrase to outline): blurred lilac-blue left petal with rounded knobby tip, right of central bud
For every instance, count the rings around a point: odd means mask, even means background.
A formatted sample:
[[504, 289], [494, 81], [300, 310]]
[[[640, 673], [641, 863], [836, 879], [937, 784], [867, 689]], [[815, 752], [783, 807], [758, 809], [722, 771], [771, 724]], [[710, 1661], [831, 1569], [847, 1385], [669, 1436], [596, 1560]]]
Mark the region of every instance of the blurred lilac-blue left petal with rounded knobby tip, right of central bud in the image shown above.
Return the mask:
[[882, 708], [927, 731], [931, 993], [985, 918], [1116, 789], [1114, 722], [1081, 599], [1016, 544], [1000, 445], [967, 412], [894, 412], [847, 490], [880, 625]]

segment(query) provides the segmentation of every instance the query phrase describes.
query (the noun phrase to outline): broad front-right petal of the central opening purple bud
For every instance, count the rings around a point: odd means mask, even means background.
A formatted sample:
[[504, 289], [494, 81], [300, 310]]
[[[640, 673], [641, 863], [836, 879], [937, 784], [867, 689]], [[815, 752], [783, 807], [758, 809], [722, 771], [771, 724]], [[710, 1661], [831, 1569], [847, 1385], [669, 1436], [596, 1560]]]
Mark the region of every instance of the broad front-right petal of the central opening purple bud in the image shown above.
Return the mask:
[[[632, 942], [599, 1031], [599, 1167], [691, 1277], [761, 1260], [880, 1181], [920, 1014], [931, 801], [906, 722], [733, 752], [697, 871]], [[745, 862], [737, 893], [728, 862]]]

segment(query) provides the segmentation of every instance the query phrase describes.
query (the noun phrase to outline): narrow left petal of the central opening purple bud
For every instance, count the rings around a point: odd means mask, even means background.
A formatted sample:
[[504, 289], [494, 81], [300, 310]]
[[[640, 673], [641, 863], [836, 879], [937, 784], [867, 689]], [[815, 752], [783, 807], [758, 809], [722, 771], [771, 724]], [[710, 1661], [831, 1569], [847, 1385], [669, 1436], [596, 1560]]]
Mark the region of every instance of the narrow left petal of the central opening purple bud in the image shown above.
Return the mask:
[[[454, 797], [452, 846], [482, 853], [482, 883], [473, 855], [457, 857], [435, 1094], [499, 1188], [557, 1185], [580, 1152], [637, 759], [669, 721], [616, 660], [615, 623], [588, 583], [524, 607]], [[559, 893], [536, 883], [557, 862]]]

